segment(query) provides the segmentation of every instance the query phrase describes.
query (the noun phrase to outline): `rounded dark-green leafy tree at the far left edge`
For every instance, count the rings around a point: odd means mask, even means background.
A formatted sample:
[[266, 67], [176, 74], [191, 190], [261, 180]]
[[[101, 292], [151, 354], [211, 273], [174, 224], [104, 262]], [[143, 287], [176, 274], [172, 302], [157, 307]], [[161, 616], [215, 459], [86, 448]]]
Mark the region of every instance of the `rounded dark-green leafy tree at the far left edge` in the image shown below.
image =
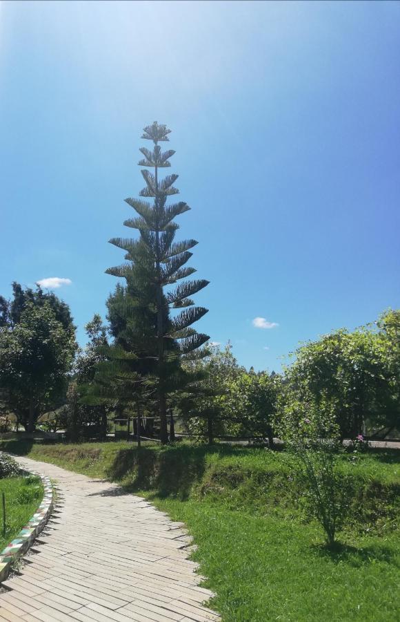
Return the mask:
[[0, 386], [26, 431], [61, 404], [76, 348], [74, 328], [65, 328], [48, 301], [24, 302], [18, 321], [0, 328]]

